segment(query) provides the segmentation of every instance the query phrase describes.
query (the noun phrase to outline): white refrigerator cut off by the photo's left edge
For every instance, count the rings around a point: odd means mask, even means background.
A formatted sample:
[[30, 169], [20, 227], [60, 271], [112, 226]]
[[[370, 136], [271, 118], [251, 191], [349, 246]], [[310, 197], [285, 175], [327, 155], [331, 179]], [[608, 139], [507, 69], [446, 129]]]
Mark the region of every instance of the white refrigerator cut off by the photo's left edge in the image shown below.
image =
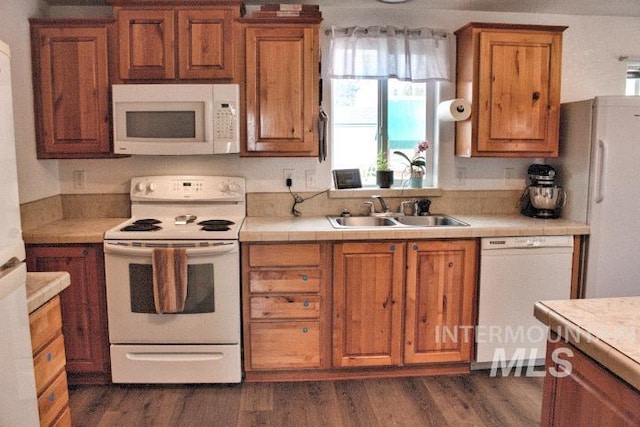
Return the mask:
[[9, 47], [0, 41], [0, 426], [39, 425], [20, 226]]

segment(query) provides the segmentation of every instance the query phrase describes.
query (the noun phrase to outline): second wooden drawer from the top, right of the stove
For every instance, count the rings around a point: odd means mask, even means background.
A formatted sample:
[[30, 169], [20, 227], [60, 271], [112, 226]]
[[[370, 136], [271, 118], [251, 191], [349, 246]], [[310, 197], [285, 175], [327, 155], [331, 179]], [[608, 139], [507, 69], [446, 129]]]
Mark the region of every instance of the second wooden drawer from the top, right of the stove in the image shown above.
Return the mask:
[[250, 271], [251, 292], [318, 292], [320, 270]]

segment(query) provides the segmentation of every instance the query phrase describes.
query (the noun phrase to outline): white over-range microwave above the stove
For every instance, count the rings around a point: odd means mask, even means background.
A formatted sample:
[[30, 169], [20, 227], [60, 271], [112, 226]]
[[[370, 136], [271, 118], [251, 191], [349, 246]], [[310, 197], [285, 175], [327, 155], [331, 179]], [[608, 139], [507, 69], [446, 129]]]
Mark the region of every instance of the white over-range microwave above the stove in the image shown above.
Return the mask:
[[237, 84], [112, 85], [116, 154], [240, 151]]

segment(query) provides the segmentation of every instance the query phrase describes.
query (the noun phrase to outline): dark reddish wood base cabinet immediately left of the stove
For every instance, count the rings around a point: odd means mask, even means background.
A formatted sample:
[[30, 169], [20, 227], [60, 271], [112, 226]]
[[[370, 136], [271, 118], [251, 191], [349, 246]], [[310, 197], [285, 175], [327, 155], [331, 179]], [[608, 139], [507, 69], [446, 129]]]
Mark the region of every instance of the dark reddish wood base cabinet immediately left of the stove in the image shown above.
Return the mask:
[[68, 271], [71, 285], [61, 294], [69, 383], [109, 373], [104, 261], [98, 246], [27, 246], [29, 271]]

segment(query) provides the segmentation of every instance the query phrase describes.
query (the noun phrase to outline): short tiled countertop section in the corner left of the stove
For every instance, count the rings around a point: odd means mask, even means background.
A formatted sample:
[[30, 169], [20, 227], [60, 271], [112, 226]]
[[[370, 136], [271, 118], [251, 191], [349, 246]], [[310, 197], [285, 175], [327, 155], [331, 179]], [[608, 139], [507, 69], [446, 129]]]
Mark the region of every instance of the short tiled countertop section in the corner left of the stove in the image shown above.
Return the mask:
[[26, 244], [102, 243], [104, 232], [128, 218], [61, 219], [22, 231]]

